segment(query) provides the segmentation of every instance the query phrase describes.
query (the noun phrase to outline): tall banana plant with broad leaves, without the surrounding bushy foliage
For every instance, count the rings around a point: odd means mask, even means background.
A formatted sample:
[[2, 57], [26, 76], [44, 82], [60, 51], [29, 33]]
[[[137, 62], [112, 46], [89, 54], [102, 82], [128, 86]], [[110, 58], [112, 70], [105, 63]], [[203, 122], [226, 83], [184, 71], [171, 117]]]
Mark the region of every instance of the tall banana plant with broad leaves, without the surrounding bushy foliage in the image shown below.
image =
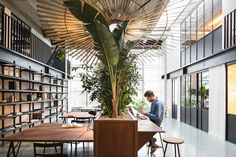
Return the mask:
[[64, 0], [64, 4], [78, 20], [84, 23], [84, 27], [93, 37], [97, 58], [108, 69], [112, 87], [112, 117], [115, 118], [119, 114], [121, 84], [124, 83], [125, 77], [125, 69], [120, 65], [133, 44], [128, 43], [129, 49], [127, 49], [124, 43], [128, 21], [116, 23], [116, 27], [111, 31], [109, 29], [111, 23], [85, 1]]

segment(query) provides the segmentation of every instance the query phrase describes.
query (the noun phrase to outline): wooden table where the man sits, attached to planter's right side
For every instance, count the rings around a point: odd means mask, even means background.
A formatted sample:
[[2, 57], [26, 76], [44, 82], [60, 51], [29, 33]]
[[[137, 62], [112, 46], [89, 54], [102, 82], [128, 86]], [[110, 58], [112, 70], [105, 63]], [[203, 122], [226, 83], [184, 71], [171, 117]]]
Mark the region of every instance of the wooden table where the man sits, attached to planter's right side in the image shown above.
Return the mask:
[[162, 151], [164, 152], [164, 145], [161, 133], [165, 133], [161, 127], [154, 124], [149, 119], [138, 121], [138, 150], [143, 147], [153, 136], [158, 133], [161, 141]]

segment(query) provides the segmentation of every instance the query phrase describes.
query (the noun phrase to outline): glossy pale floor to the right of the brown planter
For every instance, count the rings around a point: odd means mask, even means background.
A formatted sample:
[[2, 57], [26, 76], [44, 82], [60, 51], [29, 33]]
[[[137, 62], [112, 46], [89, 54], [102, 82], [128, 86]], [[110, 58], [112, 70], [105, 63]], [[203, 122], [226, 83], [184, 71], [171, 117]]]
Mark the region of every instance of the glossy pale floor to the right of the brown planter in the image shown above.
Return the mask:
[[[225, 141], [217, 136], [198, 130], [174, 119], [165, 119], [162, 127], [166, 130], [165, 136], [180, 137], [185, 143], [180, 145], [181, 157], [236, 157], [236, 144]], [[156, 135], [158, 138], [159, 136]], [[139, 151], [140, 157], [146, 157], [147, 149]], [[161, 149], [154, 155], [163, 156]], [[174, 156], [174, 147], [168, 145], [167, 157]]]

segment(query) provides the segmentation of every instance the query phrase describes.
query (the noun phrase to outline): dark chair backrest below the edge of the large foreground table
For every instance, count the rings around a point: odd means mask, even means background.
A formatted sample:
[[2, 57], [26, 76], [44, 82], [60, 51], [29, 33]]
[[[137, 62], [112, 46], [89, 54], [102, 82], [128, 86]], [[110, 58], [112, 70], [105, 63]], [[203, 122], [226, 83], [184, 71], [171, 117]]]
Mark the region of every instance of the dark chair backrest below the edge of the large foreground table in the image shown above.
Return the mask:
[[[34, 143], [33, 145], [34, 157], [63, 157], [63, 143]], [[50, 149], [53, 153], [45, 152], [46, 148], [54, 148]]]

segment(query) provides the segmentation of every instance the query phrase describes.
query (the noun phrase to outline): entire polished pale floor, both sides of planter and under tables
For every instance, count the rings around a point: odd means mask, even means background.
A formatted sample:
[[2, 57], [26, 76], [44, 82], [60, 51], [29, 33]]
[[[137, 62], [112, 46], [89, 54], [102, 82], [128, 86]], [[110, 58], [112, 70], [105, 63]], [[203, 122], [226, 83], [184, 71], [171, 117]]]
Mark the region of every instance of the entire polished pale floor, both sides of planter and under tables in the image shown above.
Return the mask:
[[[180, 145], [180, 153], [182, 157], [235, 157], [236, 145], [226, 142], [224, 139], [216, 137], [214, 135], [205, 133], [201, 130], [195, 129], [187, 124], [178, 122], [173, 119], [165, 119], [162, 127], [166, 130], [166, 133], [162, 136], [181, 137], [185, 140], [185, 143]], [[159, 136], [156, 135], [157, 139]], [[160, 140], [158, 140], [160, 143]], [[160, 144], [159, 144], [160, 145]], [[5, 157], [7, 153], [8, 145], [0, 147], [0, 157]], [[82, 144], [78, 145], [79, 157], [92, 157], [93, 156], [93, 144], [85, 143], [85, 150], [83, 153]], [[65, 144], [64, 152], [70, 152], [70, 147]], [[148, 157], [148, 150], [144, 146], [139, 152], [139, 157]], [[32, 157], [33, 149], [31, 143], [25, 143], [22, 145], [19, 157]], [[163, 156], [162, 149], [158, 149], [153, 157]], [[167, 157], [174, 156], [174, 147], [169, 145], [167, 149]]]

